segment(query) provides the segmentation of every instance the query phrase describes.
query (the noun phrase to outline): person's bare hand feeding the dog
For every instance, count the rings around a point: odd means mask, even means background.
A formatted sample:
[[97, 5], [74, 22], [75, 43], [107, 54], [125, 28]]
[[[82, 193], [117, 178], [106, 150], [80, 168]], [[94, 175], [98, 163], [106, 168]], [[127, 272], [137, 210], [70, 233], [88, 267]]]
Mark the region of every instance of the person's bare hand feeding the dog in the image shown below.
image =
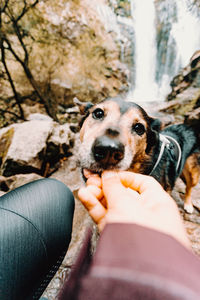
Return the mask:
[[101, 231], [106, 223], [135, 223], [189, 241], [175, 201], [152, 177], [127, 171], [93, 174], [79, 198]]

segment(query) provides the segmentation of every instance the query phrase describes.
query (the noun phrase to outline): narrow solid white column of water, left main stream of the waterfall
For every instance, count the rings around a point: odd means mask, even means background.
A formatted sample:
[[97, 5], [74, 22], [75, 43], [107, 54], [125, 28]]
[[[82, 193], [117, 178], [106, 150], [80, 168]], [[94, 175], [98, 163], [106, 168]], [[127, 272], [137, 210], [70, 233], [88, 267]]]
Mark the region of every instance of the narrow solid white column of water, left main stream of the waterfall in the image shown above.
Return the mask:
[[155, 5], [152, 0], [131, 1], [135, 31], [135, 88], [136, 100], [155, 100], [156, 83], [156, 26]]

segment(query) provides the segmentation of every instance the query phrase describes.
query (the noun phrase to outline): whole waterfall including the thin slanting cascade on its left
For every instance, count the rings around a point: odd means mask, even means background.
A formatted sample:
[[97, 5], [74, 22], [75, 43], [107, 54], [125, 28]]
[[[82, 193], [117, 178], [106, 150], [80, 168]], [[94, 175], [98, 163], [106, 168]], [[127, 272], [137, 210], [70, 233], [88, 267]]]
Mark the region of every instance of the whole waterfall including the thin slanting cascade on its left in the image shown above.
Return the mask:
[[130, 69], [127, 98], [163, 101], [173, 77], [200, 49], [200, 19], [188, 8], [189, 0], [126, 1], [130, 13], [116, 12], [117, 0], [108, 0], [110, 7], [105, 1], [95, 6], [105, 28], [115, 32], [121, 60]]

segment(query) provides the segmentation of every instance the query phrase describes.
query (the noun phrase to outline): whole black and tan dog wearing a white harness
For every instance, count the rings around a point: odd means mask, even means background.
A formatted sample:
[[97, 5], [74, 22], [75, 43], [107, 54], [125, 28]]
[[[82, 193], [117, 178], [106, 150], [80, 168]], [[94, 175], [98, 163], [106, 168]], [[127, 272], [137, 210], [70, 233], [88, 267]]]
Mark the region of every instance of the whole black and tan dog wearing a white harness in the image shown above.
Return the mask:
[[127, 170], [153, 176], [171, 192], [180, 176], [186, 184], [184, 209], [193, 212], [191, 190], [200, 177], [200, 126], [170, 125], [119, 97], [82, 103], [79, 165], [83, 171]]

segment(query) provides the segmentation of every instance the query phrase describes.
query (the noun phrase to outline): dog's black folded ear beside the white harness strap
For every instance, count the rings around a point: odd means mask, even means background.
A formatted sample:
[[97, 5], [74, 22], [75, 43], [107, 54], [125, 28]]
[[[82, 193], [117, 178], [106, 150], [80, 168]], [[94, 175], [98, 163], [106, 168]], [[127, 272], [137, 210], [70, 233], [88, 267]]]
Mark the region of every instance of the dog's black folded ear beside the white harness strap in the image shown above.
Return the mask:
[[159, 119], [149, 119], [150, 128], [147, 132], [147, 148], [146, 153], [148, 154], [152, 147], [156, 144], [158, 140], [158, 133], [161, 130], [162, 123]]

